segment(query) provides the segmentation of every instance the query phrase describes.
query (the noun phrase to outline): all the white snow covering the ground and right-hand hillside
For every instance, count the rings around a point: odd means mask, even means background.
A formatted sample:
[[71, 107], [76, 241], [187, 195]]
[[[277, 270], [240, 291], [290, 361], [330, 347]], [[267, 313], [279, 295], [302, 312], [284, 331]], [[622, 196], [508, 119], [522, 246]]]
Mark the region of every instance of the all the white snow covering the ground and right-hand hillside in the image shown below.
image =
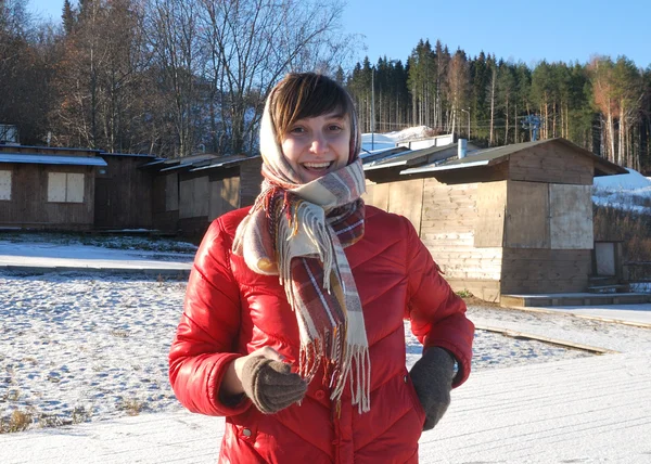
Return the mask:
[[[647, 198], [651, 181], [629, 170], [595, 185], [596, 202], [626, 206]], [[0, 434], [2, 463], [215, 462], [224, 418], [187, 412], [167, 379], [186, 289], [177, 275], [195, 249], [149, 237], [0, 235], [0, 421], [13, 411], [33, 418], [26, 431]], [[651, 462], [651, 305], [471, 305], [468, 315], [480, 328], [473, 373], [421, 437], [421, 462]], [[405, 337], [411, 366], [421, 347], [408, 324]]]

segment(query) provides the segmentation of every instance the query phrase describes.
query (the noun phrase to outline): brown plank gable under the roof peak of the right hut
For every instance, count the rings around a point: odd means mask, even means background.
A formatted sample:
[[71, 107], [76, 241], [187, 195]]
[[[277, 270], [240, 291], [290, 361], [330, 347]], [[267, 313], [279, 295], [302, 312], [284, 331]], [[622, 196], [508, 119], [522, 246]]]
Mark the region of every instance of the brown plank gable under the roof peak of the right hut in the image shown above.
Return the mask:
[[572, 153], [559, 142], [513, 153], [509, 162], [509, 179], [592, 185], [593, 162]]

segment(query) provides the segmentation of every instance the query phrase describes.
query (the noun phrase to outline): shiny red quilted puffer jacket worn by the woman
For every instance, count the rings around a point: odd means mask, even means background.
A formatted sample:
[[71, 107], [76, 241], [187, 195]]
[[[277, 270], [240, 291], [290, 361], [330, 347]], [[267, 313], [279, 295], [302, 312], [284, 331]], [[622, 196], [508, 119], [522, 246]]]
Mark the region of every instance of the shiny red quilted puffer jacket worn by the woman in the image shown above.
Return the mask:
[[179, 401], [192, 412], [226, 416], [219, 462], [417, 463], [424, 412], [405, 366], [403, 320], [425, 347], [455, 355], [456, 386], [470, 373], [474, 326], [411, 223], [367, 206], [365, 236], [346, 248], [369, 340], [371, 411], [359, 414], [347, 388], [337, 416], [317, 373], [301, 405], [267, 415], [247, 399], [229, 407], [218, 397], [235, 358], [271, 346], [295, 361], [299, 350], [296, 318], [278, 276], [256, 274], [231, 254], [246, 212], [229, 212], [206, 232], [169, 353]]

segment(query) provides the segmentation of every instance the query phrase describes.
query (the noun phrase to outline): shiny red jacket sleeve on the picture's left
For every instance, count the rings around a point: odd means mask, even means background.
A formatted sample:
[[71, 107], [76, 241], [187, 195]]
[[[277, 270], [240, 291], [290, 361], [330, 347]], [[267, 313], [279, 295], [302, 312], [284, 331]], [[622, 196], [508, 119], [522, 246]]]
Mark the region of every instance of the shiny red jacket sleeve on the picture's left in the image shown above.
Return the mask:
[[240, 291], [230, 269], [232, 239], [219, 219], [206, 232], [190, 272], [183, 313], [169, 350], [169, 381], [190, 411], [235, 415], [251, 407], [219, 399], [219, 386], [234, 352], [240, 327]]

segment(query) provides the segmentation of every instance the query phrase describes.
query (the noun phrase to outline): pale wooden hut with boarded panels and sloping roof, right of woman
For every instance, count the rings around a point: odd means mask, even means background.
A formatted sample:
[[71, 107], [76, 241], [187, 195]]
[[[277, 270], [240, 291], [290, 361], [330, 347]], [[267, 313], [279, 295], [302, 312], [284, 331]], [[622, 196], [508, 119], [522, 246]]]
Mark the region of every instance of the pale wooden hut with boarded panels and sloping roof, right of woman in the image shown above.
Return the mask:
[[585, 292], [592, 272], [595, 176], [626, 170], [564, 140], [367, 169], [366, 199], [414, 224], [456, 291]]

